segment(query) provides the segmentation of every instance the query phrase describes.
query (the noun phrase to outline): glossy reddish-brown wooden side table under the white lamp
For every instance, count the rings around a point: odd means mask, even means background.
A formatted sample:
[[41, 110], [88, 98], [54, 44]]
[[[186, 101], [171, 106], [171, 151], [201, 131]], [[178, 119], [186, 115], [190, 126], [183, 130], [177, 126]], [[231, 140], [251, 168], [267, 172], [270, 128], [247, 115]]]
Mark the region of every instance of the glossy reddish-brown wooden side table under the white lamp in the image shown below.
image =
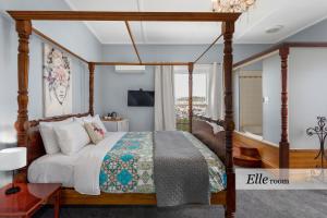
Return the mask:
[[0, 217], [32, 217], [43, 205], [53, 203], [55, 218], [59, 218], [60, 187], [59, 183], [16, 183], [21, 192], [5, 195], [11, 184], [0, 189]]

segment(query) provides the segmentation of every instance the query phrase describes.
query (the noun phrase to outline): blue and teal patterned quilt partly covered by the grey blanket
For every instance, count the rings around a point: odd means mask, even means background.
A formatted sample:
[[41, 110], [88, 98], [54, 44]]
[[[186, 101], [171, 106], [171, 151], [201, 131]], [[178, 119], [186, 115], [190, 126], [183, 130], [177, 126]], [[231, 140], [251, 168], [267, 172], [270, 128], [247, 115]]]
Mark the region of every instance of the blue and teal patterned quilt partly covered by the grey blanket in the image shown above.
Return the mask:
[[[192, 134], [183, 132], [198, 148], [209, 168], [210, 191], [226, 189], [225, 166]], [[129, 132], [109, 150], [101, 165], [100, 190], [106, 193], [155, 193], [152, 132]]]

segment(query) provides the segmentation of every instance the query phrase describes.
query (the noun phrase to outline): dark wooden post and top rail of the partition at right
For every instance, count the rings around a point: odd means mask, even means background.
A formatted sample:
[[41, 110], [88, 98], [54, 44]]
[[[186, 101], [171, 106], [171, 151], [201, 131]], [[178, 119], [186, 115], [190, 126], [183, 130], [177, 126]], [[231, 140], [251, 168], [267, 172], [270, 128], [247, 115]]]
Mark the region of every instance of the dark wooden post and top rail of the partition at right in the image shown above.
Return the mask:
[[327, 43], [281, 43], [267, 50], [256, 53], [247, 59], [244, 59], [233, 64], [233, 71], [243, 66], [250, 65], [274, 55], [280, 57], [280, 73], [281, 73], [281, 136], [279, 142], [279, 168], [290, 168], [290, 142], [289, 142], [289, 109], [288, 109], [288, 59], [290, 48], [326, 48]]

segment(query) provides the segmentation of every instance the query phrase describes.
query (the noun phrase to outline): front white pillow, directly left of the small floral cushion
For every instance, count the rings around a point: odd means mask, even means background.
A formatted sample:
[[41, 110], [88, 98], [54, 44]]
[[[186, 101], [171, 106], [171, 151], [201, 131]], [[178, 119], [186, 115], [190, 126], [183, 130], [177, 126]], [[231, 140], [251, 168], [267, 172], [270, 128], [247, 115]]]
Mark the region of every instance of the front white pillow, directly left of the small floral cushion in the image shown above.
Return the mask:
[[60, 149], [64, 155], [73, 155], [90, 142], [84, 126], [76, 121], [53, 129]]

